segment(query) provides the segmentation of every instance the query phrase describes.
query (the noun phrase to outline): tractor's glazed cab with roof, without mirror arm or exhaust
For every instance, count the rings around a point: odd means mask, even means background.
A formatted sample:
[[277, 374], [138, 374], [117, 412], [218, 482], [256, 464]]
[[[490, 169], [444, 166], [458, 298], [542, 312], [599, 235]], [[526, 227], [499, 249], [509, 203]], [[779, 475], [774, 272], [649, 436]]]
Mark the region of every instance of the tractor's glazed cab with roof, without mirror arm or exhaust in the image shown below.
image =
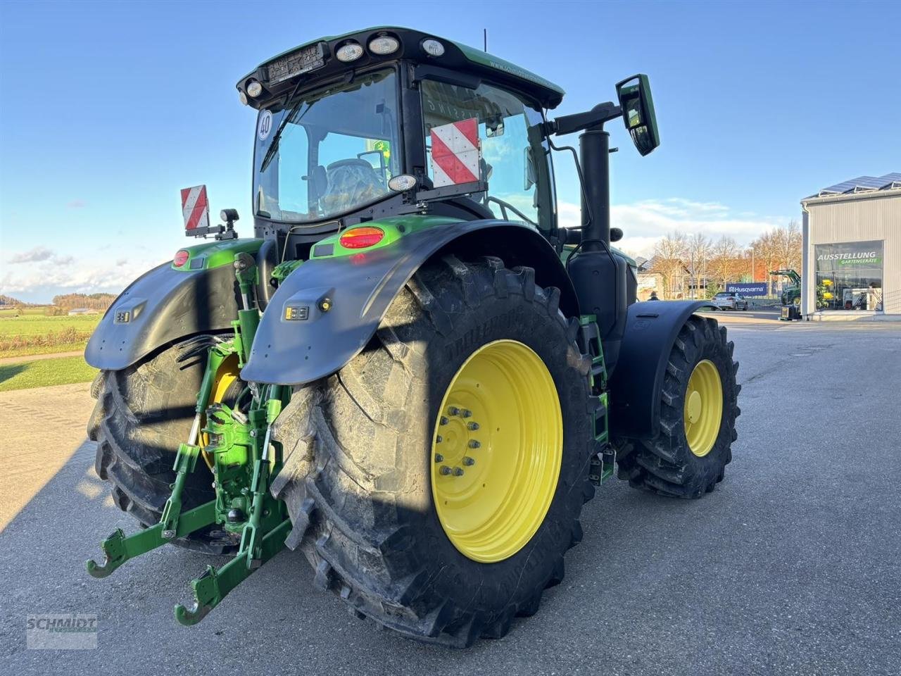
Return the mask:
[[387, 215], [494, 218], [555, 229], [542, 110], [559, 87], [406, 29], [305, 44], [238, 83], [256, 108], [256, 231], [311, 242]]

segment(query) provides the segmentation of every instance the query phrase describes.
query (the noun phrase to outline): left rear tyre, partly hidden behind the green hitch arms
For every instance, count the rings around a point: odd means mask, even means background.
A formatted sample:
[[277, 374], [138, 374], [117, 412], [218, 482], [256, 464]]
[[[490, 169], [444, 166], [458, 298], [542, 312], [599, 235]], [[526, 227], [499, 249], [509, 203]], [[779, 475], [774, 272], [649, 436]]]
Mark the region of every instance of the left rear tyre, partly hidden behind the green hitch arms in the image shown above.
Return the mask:
[[[87, 425], [96, 441], [97, 476], [112, 484], [113, 502], [142, 526], [159, 523], [175, 480], [178, 444], [187, 442], [194, 419], [205, 358], [178, 363], [169, 347], [123, 370], [101, 371], [91, 387], [97, 403]], [[182, 509], [215, 497], [213, 475], [203, 461], [187, 475]], [[189, 549], [224, 553], [232, 541], [207, 526], [173, 540]]]

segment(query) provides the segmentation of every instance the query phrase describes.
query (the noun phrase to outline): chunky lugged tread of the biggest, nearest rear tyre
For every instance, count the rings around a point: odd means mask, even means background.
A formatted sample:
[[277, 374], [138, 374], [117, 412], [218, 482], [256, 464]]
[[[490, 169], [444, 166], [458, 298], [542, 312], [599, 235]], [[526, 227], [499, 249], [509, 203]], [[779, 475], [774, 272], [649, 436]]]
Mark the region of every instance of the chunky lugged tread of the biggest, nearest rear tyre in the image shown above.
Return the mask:
[[[416, 472], [405, 470], [410, 464], [405, 447], [411, 445], [406, 437], [423, 427], [416, 407], [407, 401], [414, 384], [423, 379], [424, 354], [414, 338], [417, 331], [427, 330], [423, 327], [446, 336], [461, 313], [486, 298], [513, 296], [542, 304], [578, 352], [572, 320], [559, 310], [560, 291], [537, 286], [533, 269], [506, 269], [496, 257], [463, 262], [445, 256], [414, 273], [368, 349], [337, 374], [301, 388], [312, 395], [302, 399], [304, 411], [291, 410], [298, 391], [282, 414], [287, 414], [285, 424], [280, 416], [273, 428], [273, 440], [294, 449], [286, 453], [282, 472], [295, 478], [277, 481], [273, 493], [287, 499], [292, 520], [302, 526], [303, 533], [292, 544], [313, 566], [316, 584], [336, 593], [356, 617], [369, 617], [418, 641], [465, 647], [478, 637], [500, 638], [514, 617], [533, 615], [542, 590], [562, 580], [563, 554], [582, 538], [579, 511], [594, 495], [588, 480], [590, 456], [596, 452], [591, 439], [583, 466], [574, 470], [583, 480], [570, 485], [561, 498], [567, 513], [576, 517], [560, 526], [569, 531], [560, 551], [542, 554], [554, 560], [537, 590], [525, 593], [514, 587], [507, 602], [491, 613], [474, 608], [474, 597], [466, 603], [446, 598], [435, 605], [434, 594], [428, 596], [443, 571], [418, 561], [411, 526], [397, 525], [398, 514], [406, 508], [405, 495], [422, 481]], [[590, 361], [584, 354], [577, 361], [587, 401]], [[296, 439], [298, 428], [306, 430], [304, 443]], [[291, 508], [304, 500], [313, 501], [307, 516]], [[533, 540], [527, 546], [538, 544]], [[476, 591], [474, 587], [472, 594]]]

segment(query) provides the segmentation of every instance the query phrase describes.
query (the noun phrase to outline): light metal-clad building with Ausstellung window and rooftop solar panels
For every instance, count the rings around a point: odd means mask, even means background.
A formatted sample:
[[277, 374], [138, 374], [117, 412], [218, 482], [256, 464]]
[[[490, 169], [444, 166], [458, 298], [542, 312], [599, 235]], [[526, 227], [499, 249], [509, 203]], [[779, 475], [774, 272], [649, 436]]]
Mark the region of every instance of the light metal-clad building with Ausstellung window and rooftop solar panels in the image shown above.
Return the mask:
[[801, 314], [901, 320], [901, 173], [826, 187], [801, 208]]

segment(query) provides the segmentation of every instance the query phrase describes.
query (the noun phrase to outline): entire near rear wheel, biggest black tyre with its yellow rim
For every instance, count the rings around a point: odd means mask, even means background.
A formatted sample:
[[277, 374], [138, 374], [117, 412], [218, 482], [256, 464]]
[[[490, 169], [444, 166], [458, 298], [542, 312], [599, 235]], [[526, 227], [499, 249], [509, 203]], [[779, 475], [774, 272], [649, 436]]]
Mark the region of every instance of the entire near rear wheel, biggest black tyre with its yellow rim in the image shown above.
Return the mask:
[[[578, 516], [594, 495], [588, 470], [597, 449], [590, 362], [578, 350], [578, 322], [560, 314], [559, 299], [558, 289], [535, 285], [532, 269], [505, 269], [496, 258], [429, 263], [396, 297], [369, 346], [332, 377], [296, 391], [278, 417], [273, 438], [287, 461], [272, 491], [286, 500], [292, 516], [288, 545], [304, 551], [316, 585], [331, 589], [359, 617], [426, 642], [467, 646], [479, 636], [505, 635], [514, 617], [537, 611], [543, 589], [562, 580], [563, 555], [581, 539]], [[451, 401], [445, 395], [458, 391], [454, 383], [466, 377], [462, 367], [474, 363], [470, 358], [490, 360], [485, 346], [506, 343], [518, 345], [513, 352], [537, 355], [539, 370], [550, 374], [545, 391], [560, 406], [562, 436], [551, 449], [560, 456], [559, 474], [551, 477], [548, 505], [523, 507], [535, 521], [516, 527], [534, 526], [531, 537], [521, 531], [511, 539], [496, 530], [494, 547], [479, 531], [481, 539], [460, 537], [455, 544], [450, 532], [458, 522], [439, 514], [436, 505], [454, 489], [442, 493], [439, 482], [468, 481], [470, 470], [507, 456], [486, 442], [469, 445], [476, 467], [469, 466], [471, 458], [451, 461], [449, 442], [465, 440], [465, 431], [478, 426], [462, 418], [442, 425], [442, 415], [469, 413], [445, 411]], [[534, 366], [535, 360], [527, 357], [526, 363]], [[469, 387], [480, 387], [476, 382]], [[537, 383], [514, 389], [540, 391]], [[546, 401], [548, 409], [557, 401]], [[478, 401], [472, 409], [466, 420], [486, 416], [478, 434], [487, 434], [491, 416], [502, 416], [479, 412]], [[540, 409], [532, 411], [542, 417]], [[506, 423], [528, 425], [523, 417]], [[489, 426], [496, 431], [506, 423]], [[447, 457], [439, 461], [436, 449]], [[466, 474], [436, 475], [436, 461]], [[485, 483], [478, 481], [481, 488], [492, 481], [486, 476]], [[541, 470], [535, 476], [548, 478]], [[505, 499], [523, 498], [516, 488], [522, 484], [509, 486]], [[469, 488], [481, 490], [478, 484]], [[532, 489], [542, 490], [537, 483]], [[497, 520], [509, 523], [511, 517], [508, 510]]]

